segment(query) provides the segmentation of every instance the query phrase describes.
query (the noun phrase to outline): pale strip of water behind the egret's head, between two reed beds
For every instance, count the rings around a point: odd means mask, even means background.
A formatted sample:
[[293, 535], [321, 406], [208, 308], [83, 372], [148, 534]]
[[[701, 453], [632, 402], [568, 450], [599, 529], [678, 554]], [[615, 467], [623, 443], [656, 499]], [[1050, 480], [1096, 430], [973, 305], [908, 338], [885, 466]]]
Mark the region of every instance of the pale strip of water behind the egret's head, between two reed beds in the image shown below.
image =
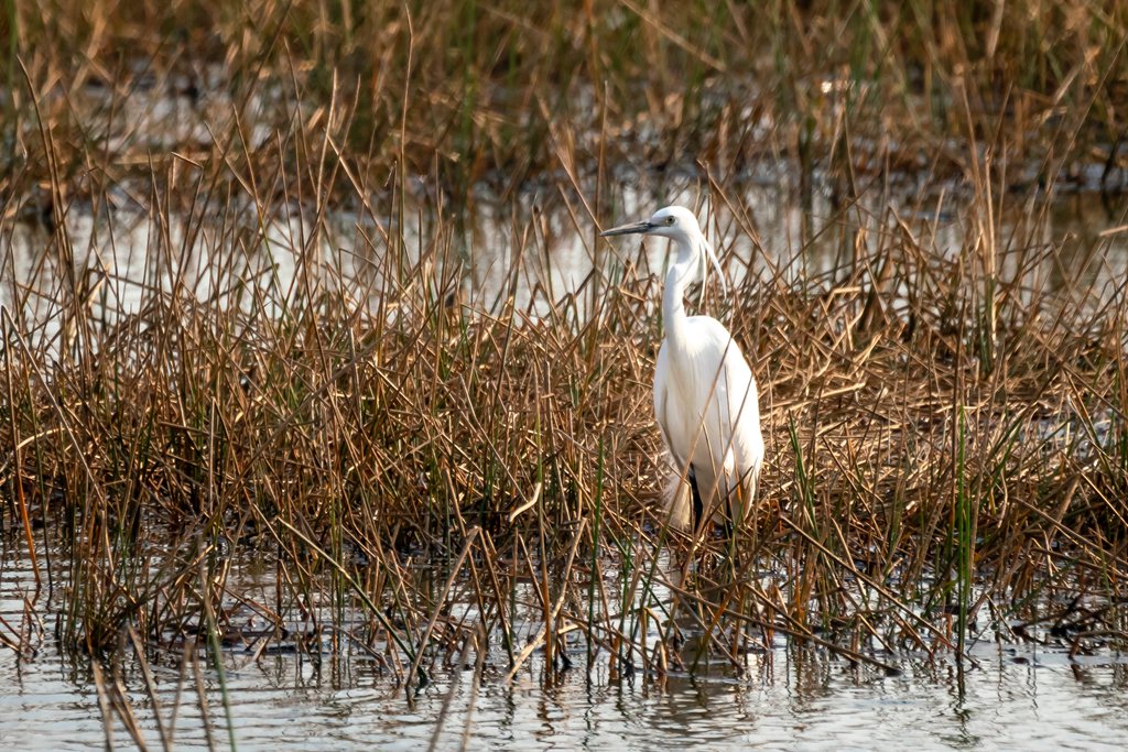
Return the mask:
[[[697, 206], [730, 290], [759, 276], [817, 280], [829, 291], [849, 276], [856, 244], [870, 253], [897, 247], [901, 231], [936, 257], [976, 258], [977, 244], [986, 242], [978, 235], [981, 220], [961, 193], [966, 186], [931, 186], [922, 194], [913, 185], [889, 195], [873, 189], [841, 210], [828, 186], [802, 197], [785, 174], [758, 174], [725, 187], [734, 192], [729, 200], [739, 201], [738, 216], [704, 189], [703, 177], [694, 170], [653, 175], [623, 168], [606, 188], [598, 219], [606, 225], [669, 203]], [[388, 259], [402, 250], [407, 264], [421, 254], [444, 263], [458, 280], [460, 302], [473, 312], [494, 312], [511, 301], [536, 318], [572, 304], [582, 319], [591, 295], [609, 284], [656, 278], [668, 260], [662, 241], [597, 244], [596, 221], [578, 211], [583, 197], [552, 179], [508, 197], [481, 188], [473, 213], [457, 221], [438, 211], [431, 188], [416, 182], [402, 227], [376, 211], [347, 206], [329, 207], [317, 223], [308, 209], [284, 202], [161, 212], [139, 197], [147, 192], [143, 185], [118, 186], [97, 207], [81, 201], [68, 206], [65, 253], [42, 209], [0, 219], [0, 307], [24, 331], [51, 340], [65, 318], [71, 280], [91, 319], [108, 326], [136, 313], [156, 291], [174, 289], [221, 309], [277, 312], [303, 292], [296, 281], [307, 269], [321, 285], [372, 309]], [[585, 195], [594, 193], [592, 182]], [[1066, 194], [1048, 206], [1041, 201], [1015, 197], [1001, 211], [990, 240], [999, 278], [1013, 280], [1026, 297], [1100, 307], [1128, 274], [1128, 215], [1098, 193]], [[372, 202], [382, 211], [387, 200]], [[593, 271], [598, 285], [587, 284]], [[434, 271], [437, 285], [443, 273]], [[906, 290], [887, 292], [892, 312], [908, 306]]]

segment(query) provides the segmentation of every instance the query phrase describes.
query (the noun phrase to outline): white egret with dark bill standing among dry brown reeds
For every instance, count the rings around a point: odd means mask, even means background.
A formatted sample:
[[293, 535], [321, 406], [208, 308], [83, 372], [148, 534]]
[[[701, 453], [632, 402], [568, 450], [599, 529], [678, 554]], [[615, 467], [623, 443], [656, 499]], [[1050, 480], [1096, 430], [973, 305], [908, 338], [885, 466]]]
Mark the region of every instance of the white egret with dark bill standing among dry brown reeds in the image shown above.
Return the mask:
[[[729, 330], [708, 316], [686, 316], [686, 287], [704, 282], [712, 262], [722, 285], [724, 274], [697, 218], [681, 206], [667, 206], [642, 222], [600, 235], [653, 235], [677, 249], [666, 275], [662, 325], [666, 337], [654, 370], [654, 417], [685, 484], [671, 499], [670, 523], [682, 530], [728, 508], [733, 523], [743, 520], [756, 495], [764, 462], [756, 379]], [[693, 517], [690, 517], [693, 514]]]

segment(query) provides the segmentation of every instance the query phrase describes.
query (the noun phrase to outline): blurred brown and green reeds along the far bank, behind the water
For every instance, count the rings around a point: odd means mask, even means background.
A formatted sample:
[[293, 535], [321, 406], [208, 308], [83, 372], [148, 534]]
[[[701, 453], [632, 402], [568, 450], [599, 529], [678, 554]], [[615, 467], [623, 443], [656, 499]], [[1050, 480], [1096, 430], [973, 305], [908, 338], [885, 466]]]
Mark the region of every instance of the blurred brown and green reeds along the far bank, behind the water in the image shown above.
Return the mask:
[[37, 116], [62, 177], [94, 152], [111, 179], [173, 150], [230, 166], [334, 121], [362, 185], [430, 175], [467, 201], [558, 169], [569, 124], [588, 167], [962, 177], [979, 142], [1006, 185], [1122, 188], [1126, 28], [1114, 0], [14, 0], [3, 157], [47, 178], [23, 138]]

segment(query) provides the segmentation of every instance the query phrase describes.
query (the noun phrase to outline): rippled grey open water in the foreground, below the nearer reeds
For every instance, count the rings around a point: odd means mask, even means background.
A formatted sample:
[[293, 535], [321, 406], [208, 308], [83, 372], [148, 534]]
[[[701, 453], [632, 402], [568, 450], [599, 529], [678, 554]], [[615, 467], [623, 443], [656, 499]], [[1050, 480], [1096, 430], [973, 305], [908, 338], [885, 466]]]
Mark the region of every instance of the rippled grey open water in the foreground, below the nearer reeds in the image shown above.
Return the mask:
[[[34, 582], [26, 559], [9, 548], [0, 581], [6, 630], [36, 629], [25, 611]], [[59, 563], [56, 563], [56, 566]], [[256, 575], [248, 575], [253, 581]], [[249, 581], [248, 581], [249, 582]], [[46, 598], [41, 594], [41, 599]], [[35, 611], [50, 613], [41, 600]], [[0, 651], [0, 745], [11, 750], [102, 746], [106, 727], [88, 663], [65, 656], [51, 623], [34, 654]], [[9, 632], [10, 634], [10, 632]], [[174, 652], [175, 653], [175, 652]], [[354, 654], [226, 652], [232, 735], [241, 750], [420, 750], [434, 734], [438, 749], [1025, 749], [1119, 750], [1128, 734], [1128, 656], [1070, 658], [1064, 649], [979, 643], [977, 666], [949, 658], [879, 655], [900, 673], [852, 665], [817, 648], [778, 642], [748, 655], [737, 674], [711, 666], [697, 676], [664, 681], [615, 678], [574, 643], [574, 665], [546, 672], [543, 656], [506, 683], [504, 653], [488, 652], [481, 674], [439, 671], [408, 700], [378, 662]], [[178, 695], [179, 655], [151, 663], [176, 749], [228, 744], [222, 692], [214, 670], [201, 667], [210, 722], [201, 715], [192, 679]], [[126, 696], [146, 742], [159, 747], [153, 709], [140, 672], [126, 665]], [[177, 702], [177, 697], [178, 702]], [[437, 723], [441, 719], [441, 727]], [[132, 740], [120, 720], [112, 738]]]

